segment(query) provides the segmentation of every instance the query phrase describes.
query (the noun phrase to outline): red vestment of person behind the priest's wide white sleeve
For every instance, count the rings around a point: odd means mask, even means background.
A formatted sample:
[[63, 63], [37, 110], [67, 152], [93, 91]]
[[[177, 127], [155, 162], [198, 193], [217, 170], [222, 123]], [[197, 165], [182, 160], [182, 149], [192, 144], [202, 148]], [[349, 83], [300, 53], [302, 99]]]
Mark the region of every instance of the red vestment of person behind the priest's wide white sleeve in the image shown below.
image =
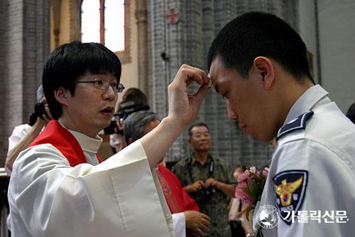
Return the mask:
[[161, 164], [158, 164], [156, 173], [172, 214], [183, 211], [200, 211], [196, 201], [191, 199], [189, 194], [182, 189], [181, 182], [175, 174]]

